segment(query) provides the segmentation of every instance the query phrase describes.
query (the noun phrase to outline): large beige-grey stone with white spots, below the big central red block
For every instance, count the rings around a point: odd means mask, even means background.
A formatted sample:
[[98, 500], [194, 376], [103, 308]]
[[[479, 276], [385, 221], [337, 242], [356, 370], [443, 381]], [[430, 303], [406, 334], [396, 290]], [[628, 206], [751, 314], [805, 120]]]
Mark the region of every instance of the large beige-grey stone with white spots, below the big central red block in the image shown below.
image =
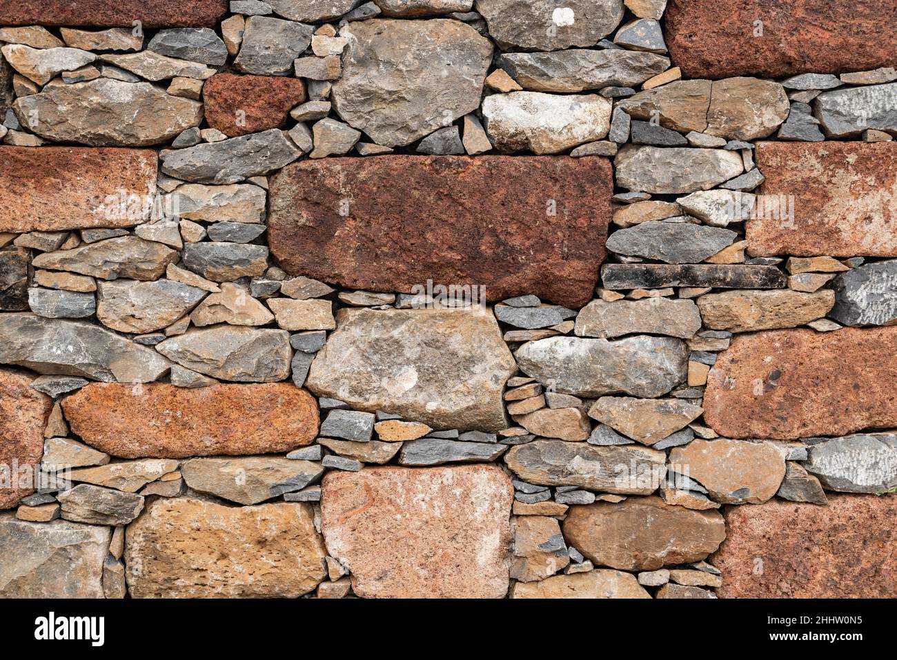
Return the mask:
[[343, 308], [306, 383], [356, 410], [495, 432], [508, 426], [501, 394], [516, 370], [489, 310]]

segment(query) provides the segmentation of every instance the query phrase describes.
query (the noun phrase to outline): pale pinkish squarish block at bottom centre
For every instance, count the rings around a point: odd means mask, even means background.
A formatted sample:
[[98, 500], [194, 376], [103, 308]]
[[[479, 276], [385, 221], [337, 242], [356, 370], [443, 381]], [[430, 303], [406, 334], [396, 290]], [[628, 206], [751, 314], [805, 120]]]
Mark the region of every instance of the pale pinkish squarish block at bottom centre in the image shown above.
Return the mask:
[[513, 497], [494, 465], [331, 472], [321, 527], [361, 597], [501, 598]]

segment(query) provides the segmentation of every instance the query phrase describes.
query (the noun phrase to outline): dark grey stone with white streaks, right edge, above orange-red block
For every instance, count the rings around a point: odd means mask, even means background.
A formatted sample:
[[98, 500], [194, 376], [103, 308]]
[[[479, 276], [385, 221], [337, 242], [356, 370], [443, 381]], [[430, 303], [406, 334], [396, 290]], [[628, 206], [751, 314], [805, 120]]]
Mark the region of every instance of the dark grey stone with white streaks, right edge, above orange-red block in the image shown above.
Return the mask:
[[861, 265], [832, 282], [835, 306], [829, 312], [844, 326], [893, 326], [897, 323], [897, 261]]

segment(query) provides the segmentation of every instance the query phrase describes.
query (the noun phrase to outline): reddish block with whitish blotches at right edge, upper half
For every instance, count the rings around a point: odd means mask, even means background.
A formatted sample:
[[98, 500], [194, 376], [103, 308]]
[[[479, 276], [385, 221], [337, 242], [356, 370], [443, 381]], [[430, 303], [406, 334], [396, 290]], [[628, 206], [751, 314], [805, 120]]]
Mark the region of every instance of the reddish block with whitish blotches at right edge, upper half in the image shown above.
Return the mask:
[[752, 256], [897, 256], [897, 143], [760, 143], [757, 167]]

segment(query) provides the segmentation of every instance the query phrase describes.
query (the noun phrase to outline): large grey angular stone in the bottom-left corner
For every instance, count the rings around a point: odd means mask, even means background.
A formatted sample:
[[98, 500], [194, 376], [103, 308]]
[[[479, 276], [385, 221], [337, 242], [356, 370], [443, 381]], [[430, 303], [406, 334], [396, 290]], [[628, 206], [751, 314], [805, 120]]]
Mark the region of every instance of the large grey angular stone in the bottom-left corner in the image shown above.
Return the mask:
[[[66, 520], [30, 523], [0, 514], [0, 596], [102, 598], [109, 527]], [[14, 559], [13, 559], [14, 558]]]

